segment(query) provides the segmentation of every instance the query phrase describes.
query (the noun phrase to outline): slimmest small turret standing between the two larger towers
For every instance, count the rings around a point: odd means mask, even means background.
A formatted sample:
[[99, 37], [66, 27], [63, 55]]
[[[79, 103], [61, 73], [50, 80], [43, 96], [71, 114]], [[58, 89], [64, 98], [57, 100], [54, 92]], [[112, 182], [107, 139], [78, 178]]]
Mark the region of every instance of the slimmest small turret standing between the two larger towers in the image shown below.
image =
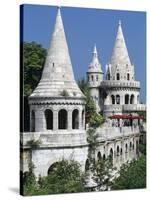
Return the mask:
[[87, 71], [87, 80], [88, 80], [88, 85], [90, 87], [91, 97], [93, 98], [96, 104], [96, 110], [97, 112], [100, 112], [101, 101], [99, 97], [99, 86], [100, 86], [100, 83], [103, 81], [103, 72], [102, 72], [101, 64], [98, 59], [96, 45], [94, 45], [94, 49], [92, 52], [92, 61]]

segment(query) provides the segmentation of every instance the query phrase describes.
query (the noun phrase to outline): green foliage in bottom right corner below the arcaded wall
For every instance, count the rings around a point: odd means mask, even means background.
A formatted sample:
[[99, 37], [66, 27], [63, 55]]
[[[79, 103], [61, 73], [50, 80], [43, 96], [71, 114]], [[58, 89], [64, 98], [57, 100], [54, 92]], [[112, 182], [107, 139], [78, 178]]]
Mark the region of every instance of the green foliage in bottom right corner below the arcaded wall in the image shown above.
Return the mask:
[[138, 189], [146, 187], [146, 157], [140, 156], [138, 160], [124, 164], [119, 172], [119, 177], [115, 178], [112, 189]]

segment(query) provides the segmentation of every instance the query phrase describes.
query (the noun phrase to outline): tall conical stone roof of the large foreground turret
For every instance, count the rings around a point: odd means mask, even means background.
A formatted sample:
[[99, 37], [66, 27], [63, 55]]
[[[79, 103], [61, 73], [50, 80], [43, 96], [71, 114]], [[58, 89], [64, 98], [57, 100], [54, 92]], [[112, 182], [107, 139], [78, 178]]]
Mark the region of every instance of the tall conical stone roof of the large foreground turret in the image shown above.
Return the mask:
[[58, 97], [64, 90], [69, 96], [83, 97], [74, 79], [61, 12], [58, 8], [42, 77], [31, 97]]

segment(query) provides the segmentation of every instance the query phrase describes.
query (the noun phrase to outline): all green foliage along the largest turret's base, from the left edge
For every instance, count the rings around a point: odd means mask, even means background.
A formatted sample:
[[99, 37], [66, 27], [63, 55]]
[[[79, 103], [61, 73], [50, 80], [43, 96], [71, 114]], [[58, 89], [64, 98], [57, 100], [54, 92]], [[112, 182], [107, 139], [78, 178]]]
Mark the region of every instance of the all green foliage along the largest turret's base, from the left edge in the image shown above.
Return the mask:
[[38, 181], [35, 181], [33, 172], [27, 174], [26, 177], [27, 178], [24, 180], [25, 195], [59, 194], [84, 191], [85, 175], [81, 172], [79, 163], [73, 160], [62, 160], [58, 162], [49, 172], [48, 176], [39, 177]]

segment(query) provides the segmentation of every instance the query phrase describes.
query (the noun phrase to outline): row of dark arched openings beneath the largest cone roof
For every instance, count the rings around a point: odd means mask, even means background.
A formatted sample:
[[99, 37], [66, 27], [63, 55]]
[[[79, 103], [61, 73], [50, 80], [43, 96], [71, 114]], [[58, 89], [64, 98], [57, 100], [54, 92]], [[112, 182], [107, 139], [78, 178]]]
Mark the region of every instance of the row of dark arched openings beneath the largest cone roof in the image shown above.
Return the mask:
[[[36, 111], [31, 111], [31, 131], [36, 131], [35, 124]], [[43, 111], [41, 122], [44, 121], [44, 130], [72, 130], [72, 129], [84, 129], [85, 128], [85, 111], [74, 109], [66, 110], [60, 109], [59, 111], [46, 109]]]

